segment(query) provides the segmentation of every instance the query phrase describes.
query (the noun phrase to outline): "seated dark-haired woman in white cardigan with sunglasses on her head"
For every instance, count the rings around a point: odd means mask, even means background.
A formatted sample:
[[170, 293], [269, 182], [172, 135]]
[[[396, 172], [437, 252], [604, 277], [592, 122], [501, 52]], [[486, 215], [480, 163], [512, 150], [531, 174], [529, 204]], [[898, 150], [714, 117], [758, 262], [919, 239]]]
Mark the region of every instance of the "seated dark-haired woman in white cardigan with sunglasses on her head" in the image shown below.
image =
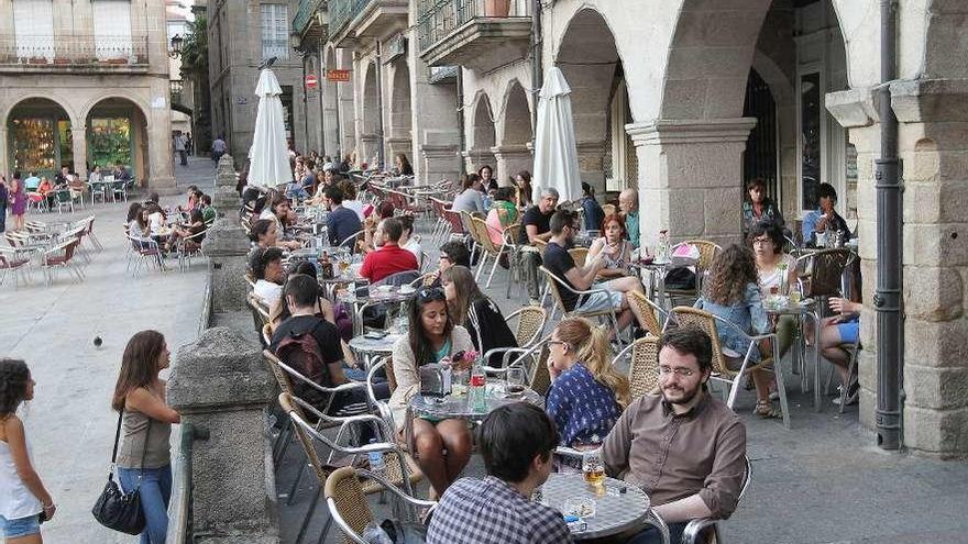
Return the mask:
[[[407, 404], [420, 392], [424, 365], [450, 362], [455, 369], [470, 368], [469, 357], [455, 355], [474, 348], [471, 335], [455, 325], [447, 309], [443, 289], [422, 288], [409, 304], [409, 332], [393, 347], [393, 375], [397, 382], [389, 399], [398, 433], [404, 431]], [[417, 463], [427, 475], [437, 497], [460, 476], [471, 458], [471, 432], [463, 419], [438, 420], [419, 417], [413, 420]]]

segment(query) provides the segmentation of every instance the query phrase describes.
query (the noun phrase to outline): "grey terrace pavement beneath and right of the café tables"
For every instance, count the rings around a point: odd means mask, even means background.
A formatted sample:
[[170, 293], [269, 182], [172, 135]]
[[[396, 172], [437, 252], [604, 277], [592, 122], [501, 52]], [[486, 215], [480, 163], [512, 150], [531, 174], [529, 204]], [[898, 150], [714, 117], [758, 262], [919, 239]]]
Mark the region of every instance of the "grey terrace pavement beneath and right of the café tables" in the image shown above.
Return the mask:
[[[428, 230], [426, 221], [417, 226], [425, 233]], [[425, 243], [424, 251], [437, 262], [436, 247]], [[505, 298], [506, 278], [507, 273], [498, 269], [487, 292], [508, 314], [527, 303], [527, 292], [512, 286], [512, 298]], [[486, 274], [482, 274], [482, 289], [484, 280]], [[788, 375], [789, 369], [787, 364]], [[725, 542], [968, 543], [968, 464], [886, 453], [875, 445], [873, 434], [860, 428], [857, 407], [838, 414], [825, 398], [824, 410], [815, 413], [812, 396], [800, 392], [799, 376], [787, 377], [787, 390], [790, 431], [779, 420], [752, 415], [752, 391], [739, 395], [736, 410], [747, 425], [752, 482], [733, 518], [722, 523]], [[276, 480], [280, 493], [288, 491], [302, 458], [298, 444], [293, 444], [287, 456]], [[483, 473], [481, 457], [475, 455], [465, 474]], [[310, 473], [304, 475], [292, 507], [279, 500], [284, 542], [295, 541], [317, 489], [314, 479]], [[426, 489], [424, 484], [418, 492], [426, 493]], [[378, 519], [389, 515], [375, 500], [371, 504]], [[320, 502], [307, 542], [318, 539], [328, 515], [323, 510]], [[342, 542], [336, 533], [331, 530], [326, 542]]]

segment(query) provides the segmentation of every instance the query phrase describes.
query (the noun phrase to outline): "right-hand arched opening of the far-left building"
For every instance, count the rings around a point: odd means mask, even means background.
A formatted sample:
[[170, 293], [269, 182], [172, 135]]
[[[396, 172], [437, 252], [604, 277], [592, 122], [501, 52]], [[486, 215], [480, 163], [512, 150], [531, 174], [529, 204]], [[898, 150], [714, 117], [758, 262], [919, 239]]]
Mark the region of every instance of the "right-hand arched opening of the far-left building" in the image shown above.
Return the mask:
[[[151, 165], [150, 112], [144, 101], [125, 93], [108, 93], [86, 104], [84, 147], [91, 168], [121, 160], [144, 186]], [[127, 149], [118, 137], [124, 133], [129, 137]]]

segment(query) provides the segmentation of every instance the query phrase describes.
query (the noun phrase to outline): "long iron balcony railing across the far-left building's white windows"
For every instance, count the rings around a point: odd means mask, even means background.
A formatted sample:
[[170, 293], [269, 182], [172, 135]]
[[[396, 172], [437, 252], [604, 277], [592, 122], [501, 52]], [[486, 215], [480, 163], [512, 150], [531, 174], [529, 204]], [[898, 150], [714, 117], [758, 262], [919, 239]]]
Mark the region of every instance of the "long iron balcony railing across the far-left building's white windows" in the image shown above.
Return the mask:
[[0, 35], [0, 65], [97, 67], [148, 64], [147, 35]]

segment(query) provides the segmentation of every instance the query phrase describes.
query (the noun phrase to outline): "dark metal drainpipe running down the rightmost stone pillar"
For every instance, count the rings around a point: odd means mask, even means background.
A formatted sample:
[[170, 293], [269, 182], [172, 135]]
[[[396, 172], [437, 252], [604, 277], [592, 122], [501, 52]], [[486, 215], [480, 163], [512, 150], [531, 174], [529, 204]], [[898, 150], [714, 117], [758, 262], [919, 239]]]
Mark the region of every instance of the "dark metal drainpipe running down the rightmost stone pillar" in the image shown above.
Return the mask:
[[881, 0], [881, 85], [878, 112], [881, 158], [876, 160], [877, 188], [877, 443], [900, 449], [901, 365], [904, 334], [901, 322], [901, 164], [898, 158], [898, 118], [891, 108], [890, 81], [897, 77], [897, 0]]

